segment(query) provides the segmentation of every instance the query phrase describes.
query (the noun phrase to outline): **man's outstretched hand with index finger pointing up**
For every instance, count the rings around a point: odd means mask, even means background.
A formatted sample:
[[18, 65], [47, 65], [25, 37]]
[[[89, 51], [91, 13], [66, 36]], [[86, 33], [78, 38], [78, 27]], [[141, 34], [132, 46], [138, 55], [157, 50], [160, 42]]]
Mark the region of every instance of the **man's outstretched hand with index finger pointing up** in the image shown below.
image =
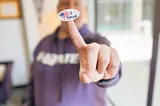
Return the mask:
[[120, 65], [116, 50], [105, 44], [86, 44], [73, 21], [66, 22], [66, 26], [79, 54], [80, 80], [83, 83], [90, 83], [114, 78]]

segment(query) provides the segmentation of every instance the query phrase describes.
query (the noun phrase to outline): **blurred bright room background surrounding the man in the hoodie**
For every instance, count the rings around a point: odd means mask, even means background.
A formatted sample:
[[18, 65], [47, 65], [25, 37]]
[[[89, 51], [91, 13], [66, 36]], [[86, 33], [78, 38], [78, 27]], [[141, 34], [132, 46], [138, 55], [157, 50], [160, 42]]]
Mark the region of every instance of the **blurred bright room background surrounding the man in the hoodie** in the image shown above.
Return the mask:
[[[121, 81], [107, 89], [109, 106], [160, 106], [159, 0], [85, 2], [86, 23], [111, 41], [123, 65]], [[0, 70], [9, 73], [9, 106], [25, 100], [33, 50], [60, 24], [56, 5], [57, 0], [0, 0]]]

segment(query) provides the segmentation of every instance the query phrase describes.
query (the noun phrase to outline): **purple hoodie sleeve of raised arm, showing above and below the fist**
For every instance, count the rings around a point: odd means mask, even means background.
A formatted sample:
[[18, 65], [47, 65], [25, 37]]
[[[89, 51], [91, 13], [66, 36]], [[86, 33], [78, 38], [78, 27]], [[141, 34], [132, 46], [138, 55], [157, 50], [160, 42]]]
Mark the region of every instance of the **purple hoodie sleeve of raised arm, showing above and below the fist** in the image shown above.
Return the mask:
[[[85, 39], [86, 43], [96, 42], [98, 44], [106, 44], [107, 46], [110, 47], [109, 40], [106, 39], [105, 37], [100, 36], [99, 34], [92, 34], [91, 36], [87, 36], [84, 39]], [[112, 87], [119, 82], [121, 76], [122, 76], [122, 64], [120, 64], [117, 75], [114, 78], [108, 79], [108, 80], [101, 79], [96, 84], [100, 87], [103, 87], [103, 88]]]

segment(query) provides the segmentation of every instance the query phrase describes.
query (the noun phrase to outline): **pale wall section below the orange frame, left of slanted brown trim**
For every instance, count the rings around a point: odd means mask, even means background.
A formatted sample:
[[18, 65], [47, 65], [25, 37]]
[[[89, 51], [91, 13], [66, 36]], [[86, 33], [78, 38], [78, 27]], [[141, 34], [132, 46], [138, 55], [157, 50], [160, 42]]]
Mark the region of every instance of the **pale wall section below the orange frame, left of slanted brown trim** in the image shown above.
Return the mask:
[[0, 20], [0, 61], [14, 61], [13, 85], [27, 82], [22, 37], [22, 24], [19, 19]]

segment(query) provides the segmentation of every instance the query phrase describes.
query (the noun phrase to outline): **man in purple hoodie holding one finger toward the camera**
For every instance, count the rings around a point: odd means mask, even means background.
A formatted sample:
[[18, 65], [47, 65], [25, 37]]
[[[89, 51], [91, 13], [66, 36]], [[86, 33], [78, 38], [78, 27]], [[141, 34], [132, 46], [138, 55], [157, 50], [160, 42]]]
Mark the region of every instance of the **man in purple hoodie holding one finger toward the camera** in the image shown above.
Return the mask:
[[58, 12], [81, 15], [62, 22], [34, 51], [28, 106], [106, 106], [106, 88], [121, 78], [118, 53], [83, 22], [83, 0], [59, 0]]

